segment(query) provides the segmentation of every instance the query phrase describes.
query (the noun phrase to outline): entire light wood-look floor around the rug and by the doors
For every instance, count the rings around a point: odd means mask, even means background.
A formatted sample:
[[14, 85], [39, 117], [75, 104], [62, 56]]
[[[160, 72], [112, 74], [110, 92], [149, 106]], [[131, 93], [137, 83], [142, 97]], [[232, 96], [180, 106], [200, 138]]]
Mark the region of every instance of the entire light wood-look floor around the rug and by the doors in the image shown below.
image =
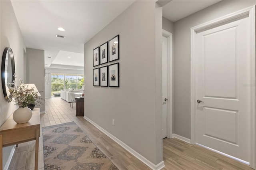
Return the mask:
[[[120, 170], [150, 170], [83, 117], [76, 117], [75, 103], [72, 108], [60, 97], [46, 98], [45, 112], [40, 115], [41, 127], [74, 121]], [[8, 170], [34, 170], [34, 152], [35, 141], [19, 144]], [[248, 165], [176, 138], [163, 140], [163, 159], [164, 170], [252, 170]], [[38, 161], [38, 169], [44, 170], [42, 130]]]

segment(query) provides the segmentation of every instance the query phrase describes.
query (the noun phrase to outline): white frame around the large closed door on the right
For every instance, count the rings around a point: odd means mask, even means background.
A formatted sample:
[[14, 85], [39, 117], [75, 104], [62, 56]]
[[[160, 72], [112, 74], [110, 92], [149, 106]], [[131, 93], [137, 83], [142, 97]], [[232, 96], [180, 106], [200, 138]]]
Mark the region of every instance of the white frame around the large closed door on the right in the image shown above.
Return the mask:
[[238, 18], [250, 20], [250, 167], [256, 169], [256, 47], [255, 47], [255, 6], [190, 28], [190, 142], [196, 143], [196, 33], [216, 25], [232, 22]]

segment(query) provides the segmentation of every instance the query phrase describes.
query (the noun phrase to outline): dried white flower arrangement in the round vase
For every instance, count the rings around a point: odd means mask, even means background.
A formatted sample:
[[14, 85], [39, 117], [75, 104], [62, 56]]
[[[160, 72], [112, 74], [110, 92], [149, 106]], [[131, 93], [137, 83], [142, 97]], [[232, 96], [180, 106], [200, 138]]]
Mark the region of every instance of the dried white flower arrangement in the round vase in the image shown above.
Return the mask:
[[19, 107], [27, 107], [29, 104], [42, 104], [38, 97], [38, 92], [34, 90], [34, 87], [29, 88], [28, 85], [22, 83], [22, 79], [20, 79], [20, 86], [15, 87], [14, 83], [10, 83], [11, 88], [9, 89], [10, 97], [6, 97], [8, 102], [14, 101]]

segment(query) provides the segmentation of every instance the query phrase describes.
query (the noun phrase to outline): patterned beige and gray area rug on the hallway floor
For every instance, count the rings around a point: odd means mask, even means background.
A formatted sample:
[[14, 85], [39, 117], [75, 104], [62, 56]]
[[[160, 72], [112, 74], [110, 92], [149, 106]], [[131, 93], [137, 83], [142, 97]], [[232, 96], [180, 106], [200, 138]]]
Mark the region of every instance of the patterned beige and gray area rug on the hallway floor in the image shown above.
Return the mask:
[[74, 122], [43, 127], [45, 170], [118, 170]]

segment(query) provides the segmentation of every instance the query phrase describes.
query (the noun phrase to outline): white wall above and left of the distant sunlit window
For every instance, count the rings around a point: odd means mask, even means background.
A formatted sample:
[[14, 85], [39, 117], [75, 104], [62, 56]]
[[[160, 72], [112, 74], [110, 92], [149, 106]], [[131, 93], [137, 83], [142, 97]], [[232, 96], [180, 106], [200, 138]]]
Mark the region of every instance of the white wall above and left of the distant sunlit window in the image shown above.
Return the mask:
[[54, 68], [46, 68], [45, 69], [46, 77], [45, 79], [48, 79], [49, 77], [49, 84], [48, 82], [44, 82], [45, 84], [45, 97], [51, 97], [52, 96], [52, 81], [51, 81], [51, 73], [61, 73], [61, 74], [84, 74], [84, 70], [75, 70], [75, 69], [54, 69]]

